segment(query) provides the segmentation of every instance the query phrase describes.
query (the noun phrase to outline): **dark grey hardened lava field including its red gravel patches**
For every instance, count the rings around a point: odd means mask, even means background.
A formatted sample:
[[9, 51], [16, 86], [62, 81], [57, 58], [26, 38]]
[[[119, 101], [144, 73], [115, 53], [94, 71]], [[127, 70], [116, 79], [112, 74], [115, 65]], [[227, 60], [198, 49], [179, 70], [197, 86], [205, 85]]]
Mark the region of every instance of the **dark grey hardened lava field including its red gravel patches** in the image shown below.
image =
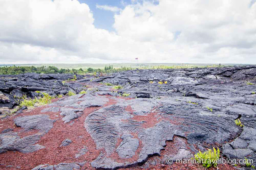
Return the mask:
[[[87, 94], [2, 117], [0, 168], [204, 169], [167, 165], [166, 159], [190, 159], [212, 147], [219, 147], [223, 158], [252, 159], [256, 165], [255, 75], [256, 66], [131, 70], [77, 75], [65, 83], [74, 76], [1, 75], [5, 109], [24, 95], [38, 96], [36, 90], [64, 96], [86, 89]], [[235, 124], [237, 118], [243, 127]]]

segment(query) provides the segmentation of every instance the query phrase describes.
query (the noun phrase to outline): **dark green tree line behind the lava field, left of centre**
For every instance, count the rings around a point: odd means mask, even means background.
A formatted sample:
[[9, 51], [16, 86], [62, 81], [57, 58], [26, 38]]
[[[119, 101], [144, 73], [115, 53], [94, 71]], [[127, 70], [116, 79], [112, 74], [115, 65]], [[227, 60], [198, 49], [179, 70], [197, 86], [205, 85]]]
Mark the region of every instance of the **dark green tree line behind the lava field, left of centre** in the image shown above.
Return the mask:
[[71, 74], [86, 74], [86, 73], [112, 73], [112, 72], [118, 72], [118, 71], [124, 71], [124, 70], [131, 70], [134, 68], [131, 67], [122, 67], [122, 68], [113, 68], [113, 65], [105, 66], [104, 69], [94, 69], [94, 68], [88, 68], [88, 69], [65, 69], [65, 68], [57, 68], [55, 66], [41, 66], [41, 67], [34, 67], [34, 66], [4, 66], [0, 67], [0, 74], [23, 74], [23, 73], [38, 73], [38, 74], [58, 74], [58, 73], [71, 73]]

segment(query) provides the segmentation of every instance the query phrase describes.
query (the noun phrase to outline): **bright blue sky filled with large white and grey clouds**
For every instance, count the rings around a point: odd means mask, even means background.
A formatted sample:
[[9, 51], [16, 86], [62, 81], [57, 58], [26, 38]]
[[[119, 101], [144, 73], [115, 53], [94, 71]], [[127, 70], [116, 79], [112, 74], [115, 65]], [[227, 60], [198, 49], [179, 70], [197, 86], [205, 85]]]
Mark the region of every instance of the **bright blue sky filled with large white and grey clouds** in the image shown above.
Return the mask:
[[256, 0], [0, 4], [0, 64], [256, 63]]

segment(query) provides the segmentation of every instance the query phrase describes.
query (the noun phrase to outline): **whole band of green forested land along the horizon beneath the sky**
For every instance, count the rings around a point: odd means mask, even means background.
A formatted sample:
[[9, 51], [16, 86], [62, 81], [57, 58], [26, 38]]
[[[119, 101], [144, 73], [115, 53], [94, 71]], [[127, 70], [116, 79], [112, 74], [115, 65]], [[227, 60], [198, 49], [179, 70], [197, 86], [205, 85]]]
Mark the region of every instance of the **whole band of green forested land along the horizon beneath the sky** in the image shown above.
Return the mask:
[[[118, 63], [108, 64], [26, 64], [26, 65], [0, 65], [0, 74], [87, 74], [87, 73], [115, 73], [134, 69], [180, 69], [202, 67], [228, 67], [235, 64], [180, 64], [180, 63]], [[246, 65], [246, 64], [239, 64]], [[37, 67], [36, 67], [37, 66]], [[80, 68], [79, 68], [80, 67]]]

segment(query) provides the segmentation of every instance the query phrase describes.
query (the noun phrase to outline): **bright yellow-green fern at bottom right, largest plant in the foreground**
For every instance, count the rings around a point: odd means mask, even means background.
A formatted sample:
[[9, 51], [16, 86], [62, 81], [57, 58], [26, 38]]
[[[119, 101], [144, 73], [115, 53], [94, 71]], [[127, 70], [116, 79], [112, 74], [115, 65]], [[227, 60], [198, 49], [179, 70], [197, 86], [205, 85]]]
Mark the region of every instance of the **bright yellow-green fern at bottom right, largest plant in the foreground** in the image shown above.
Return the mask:
[[208, 151], [202, 153], [198, 152], [194, 158], [196, 159], [196, 162], [203, 164], [204, 167], [209, 168], [209, 167], [217, 167], [217, 160], [220, 159], [220, 150], [219, 148], [216, 149], [213, 147], [213, 152], [211, 149], [208, 149]]

